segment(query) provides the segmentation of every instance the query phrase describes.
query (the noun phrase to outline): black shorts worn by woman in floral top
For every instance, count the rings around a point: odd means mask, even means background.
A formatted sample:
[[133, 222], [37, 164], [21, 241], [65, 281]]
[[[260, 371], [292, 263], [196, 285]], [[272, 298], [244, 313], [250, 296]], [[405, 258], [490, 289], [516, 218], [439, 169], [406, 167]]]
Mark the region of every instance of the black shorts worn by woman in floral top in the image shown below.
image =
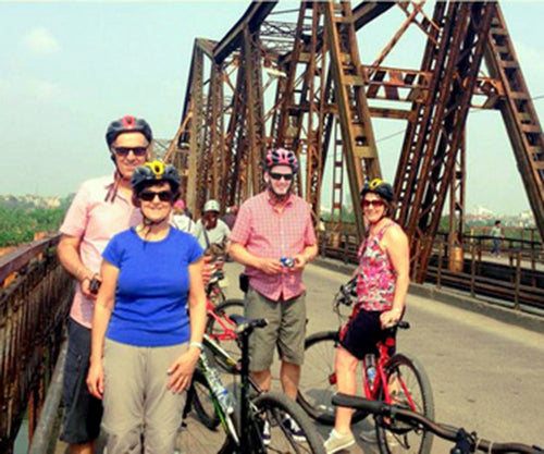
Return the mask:
[[[378, 342], [385, 343], [387, 338], [395, 339], [396, 330], [382, 330], [380, 324], [381, 311], [359, 310], [359, 314], [349, 322], [341, 340], [341, 345], [358, 359], [363, 359], [368, 353], [378, 356]], [[390, 347], [390, 355], [395, 347]]]

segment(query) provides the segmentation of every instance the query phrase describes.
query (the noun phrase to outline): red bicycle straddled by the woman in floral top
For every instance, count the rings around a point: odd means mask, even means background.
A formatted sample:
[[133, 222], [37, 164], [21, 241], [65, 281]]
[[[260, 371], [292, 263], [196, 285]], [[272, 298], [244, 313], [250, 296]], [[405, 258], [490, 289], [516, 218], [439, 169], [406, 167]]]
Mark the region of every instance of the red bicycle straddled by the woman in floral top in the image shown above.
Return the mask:
[[[300, 377], [297, 402], [316, 420], [333, 425], [335, 406], [332, 397], [336, 393], [336, 373], [334, 363], [336, 348], [339, 344], [341, 330], [345, 316], [342, 307], [353, 306], [355, 298], [355, 282], [350, 281], [341, 286], [333, 303], [334, 311], [338, 315], [341, 328], [336, 331], [324, 331], [308, 336], [305, 341], [305, 365]], [[349, 319], [357, 315], [353, 308]], [[417, 358], [405, 354], [390, 352], [395, 347], [395, 329], [408, 329], [406, 321], [392, 327], [391, 336], [385, 342], [376, 344], [376, 358], [368, 356], [362, 360], [358, 370], [358, 381], [362, 383], [359, 396], [368, 400], [382, 401], [386, 404], [400, 405], [420, 413], [428, 418], [434, 418], [434, 401], [431, 382], [425, 370]], [[373, 355], [372, 355], [373, 356]], [[372, 365], [369, 365], [372, 360]], [[369, 378], [369, 370], [375, 377]], [[353, 421], [358, 422], [368, 416], [367, 412], [356, 409]], [[387, 422], [387, 421], [385, 421]], [[376, 425], [378, 444], [381, 453], [429, 453], [432, 445], [432, 434], [421, 427], [413, 428], [397, 421]]]

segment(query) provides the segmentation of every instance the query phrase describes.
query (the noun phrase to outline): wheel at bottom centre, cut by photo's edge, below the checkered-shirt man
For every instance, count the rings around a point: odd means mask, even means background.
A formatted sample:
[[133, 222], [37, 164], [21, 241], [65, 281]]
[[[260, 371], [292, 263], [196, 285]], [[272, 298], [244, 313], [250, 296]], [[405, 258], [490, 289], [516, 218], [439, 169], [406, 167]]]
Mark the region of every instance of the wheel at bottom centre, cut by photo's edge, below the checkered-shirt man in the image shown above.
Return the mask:
[[[325, 454], [323, 439], [302, 409], [285, 394], [267, 392], [252, 400], [254, 418], [259, 428], [268, 422], [270, 441], [267, 452]], [[265, 421], [265, 422], [264, 422]], [[262, 431], [261, 431], [262, 440]], [[251, 446], [260, 446], [256, 440]]]

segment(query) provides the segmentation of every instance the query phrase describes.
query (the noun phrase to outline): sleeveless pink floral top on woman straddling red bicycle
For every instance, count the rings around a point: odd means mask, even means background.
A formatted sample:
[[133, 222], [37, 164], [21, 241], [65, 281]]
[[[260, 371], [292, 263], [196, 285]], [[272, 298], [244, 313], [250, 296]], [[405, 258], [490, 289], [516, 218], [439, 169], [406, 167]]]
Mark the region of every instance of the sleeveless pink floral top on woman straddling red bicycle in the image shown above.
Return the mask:
[[359, 247], [359, 309], [384, 311], [393, 307], [397, 277], [390, 256], [380, 246], [385, 231], [392, 225], [395, 225], [394, 221], [387, 222], [375, 235], [367, 237]]

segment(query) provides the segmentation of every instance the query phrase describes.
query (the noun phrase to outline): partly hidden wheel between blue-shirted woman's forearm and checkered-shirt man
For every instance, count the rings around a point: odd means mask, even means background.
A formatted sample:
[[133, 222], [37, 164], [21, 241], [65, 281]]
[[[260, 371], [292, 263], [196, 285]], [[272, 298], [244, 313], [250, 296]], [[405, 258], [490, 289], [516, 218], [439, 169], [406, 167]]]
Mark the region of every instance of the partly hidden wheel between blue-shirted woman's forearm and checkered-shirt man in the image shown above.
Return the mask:
[[[244, 315], [243, 299], [226, 299], [215, 307], [213, 314], [208, 314], [206, 333], [218, 342], [228, 356], [238, 360], [242, 352], [234, 332], [235, 323], [228, 318], [232, 315]], [[214, 359], [222, 369], [231, 370], [231, 367], [226, 366], [219, 356], [215, 356]]]

